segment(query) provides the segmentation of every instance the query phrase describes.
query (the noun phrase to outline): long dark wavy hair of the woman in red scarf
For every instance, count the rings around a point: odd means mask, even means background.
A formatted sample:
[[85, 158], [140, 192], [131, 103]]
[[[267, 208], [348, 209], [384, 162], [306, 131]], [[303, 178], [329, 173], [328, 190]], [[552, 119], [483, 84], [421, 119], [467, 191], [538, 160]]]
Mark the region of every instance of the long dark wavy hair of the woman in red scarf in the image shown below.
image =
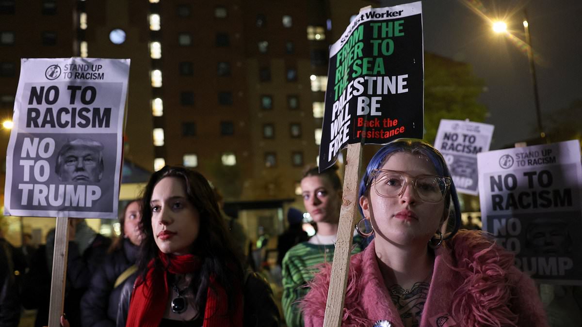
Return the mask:
[[151, 227], [151, 196], [156, 184], [165, 177], [176, 177], [183, 180], [186, 186], [186, 195], [200, 214], [200, 230], [194, 241], [193, 253], [200, 257], [202, 265], [200, 271], [194, 275], [190, 289], [196, 294], [194, 303], [198, 310], [204, 312], [207, 290], [210, 286], [210, 276], [213, 276], [223, 287], [228, 298], [229, 312], [235, 310], [237, 291], [242, 289], [243, 268], [238, 260], [233, 246], [228, 238], [225, 222], [218, 209], [208, 180], [194, 170], [165, 166], [153, 173], [145, 186], [141, 199], [140, 230], [143, 235], [140, 248], [138, 267], [141, 280], [145, 280], [148, 264], [154, 261], [154, 268], [163, 271], [166, 269], [158, 256], [158, 246], [155, 244], [154, 233]]

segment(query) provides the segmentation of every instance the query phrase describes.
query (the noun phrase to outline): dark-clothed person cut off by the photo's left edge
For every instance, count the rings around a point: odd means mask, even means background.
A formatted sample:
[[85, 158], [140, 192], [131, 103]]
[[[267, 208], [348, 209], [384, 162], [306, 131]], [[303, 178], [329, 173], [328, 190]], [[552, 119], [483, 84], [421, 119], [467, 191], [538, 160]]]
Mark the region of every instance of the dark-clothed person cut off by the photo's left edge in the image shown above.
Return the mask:
[[16, 327], [20, 321], [20, 299], [9, 255], [0, 246], [0, 327]]

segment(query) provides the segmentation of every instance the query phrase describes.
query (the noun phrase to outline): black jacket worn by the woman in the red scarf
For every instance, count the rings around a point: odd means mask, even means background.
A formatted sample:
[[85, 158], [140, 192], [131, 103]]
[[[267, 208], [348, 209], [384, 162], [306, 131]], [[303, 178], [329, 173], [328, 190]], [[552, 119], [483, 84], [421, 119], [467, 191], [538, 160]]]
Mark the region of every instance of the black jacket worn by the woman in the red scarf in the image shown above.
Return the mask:
[[[136, 277], [137, 273], [134, 273], [123, 285], [117, 316], [118, 327], [125, 327]], [[271, 286], [256, 272], [247, 271], [244, 276], [243, 310], [243, 327], [278, 327], [281, 321]]]

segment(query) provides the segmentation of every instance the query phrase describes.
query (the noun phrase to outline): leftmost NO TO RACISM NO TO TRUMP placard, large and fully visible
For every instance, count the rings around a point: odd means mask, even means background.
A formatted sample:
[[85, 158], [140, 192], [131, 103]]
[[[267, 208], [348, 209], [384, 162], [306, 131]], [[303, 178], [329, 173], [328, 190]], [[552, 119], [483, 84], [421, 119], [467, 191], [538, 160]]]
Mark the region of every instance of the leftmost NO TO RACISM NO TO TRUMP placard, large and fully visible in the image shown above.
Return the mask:
[[129, 59], [22, 59], [4, 214], [117, 218]]

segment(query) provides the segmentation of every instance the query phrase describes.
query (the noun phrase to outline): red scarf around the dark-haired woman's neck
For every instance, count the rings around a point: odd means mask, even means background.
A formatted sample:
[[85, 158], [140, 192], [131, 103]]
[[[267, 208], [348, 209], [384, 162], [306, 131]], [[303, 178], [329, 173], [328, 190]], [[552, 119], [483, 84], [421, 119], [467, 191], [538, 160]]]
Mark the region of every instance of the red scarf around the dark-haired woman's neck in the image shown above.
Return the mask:
[[[200, 258], [196, 255], [166, 255], [160, 252], [159, 258], [167, 268], [163, 271], [155, 269], [154, 260], [150, 261], [145, 280], [133, 289], [126, 326], [158, 327], [164, 317], [166, 301], [168, 301], [168, 273], [184, 274], [200, 270]], [[242, 293], [239, 293], [235, 312], [229, 316], [226, 292], [211, 276], [203, 326], [242, 326], [242, 299]]]

